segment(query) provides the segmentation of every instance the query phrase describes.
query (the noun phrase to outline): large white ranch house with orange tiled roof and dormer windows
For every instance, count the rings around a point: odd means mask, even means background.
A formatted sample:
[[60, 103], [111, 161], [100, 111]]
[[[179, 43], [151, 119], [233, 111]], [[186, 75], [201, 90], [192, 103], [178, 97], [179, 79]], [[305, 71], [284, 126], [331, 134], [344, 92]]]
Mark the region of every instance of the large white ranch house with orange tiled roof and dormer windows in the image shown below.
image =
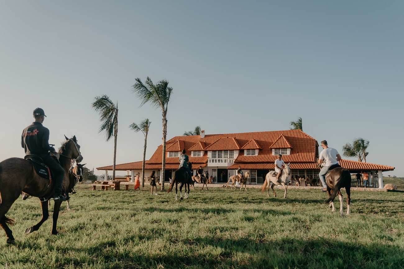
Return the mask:
[[[179, 155], [185, 149], [192, 163], [194, 175], [202, 166], [213, 177], [212, 183], [226, 183], [230, 176], [236, 174], [240, 166], [250, 173], [247, 184], [263, 184], [265, 175], [274, 170], [274, 162], [278, 154], [282, 154], [285, 163], [290, 163], [292, 176], [313, 177], [318, 179], [320, 169], [317, 167], [318, 142], [301, 130], [262, 131], [251, 133], [227, 133], [199, 136], [176, 136], [167, 141], [165, 181], [173, 176], [179, 167]], [[162, 148], [158, 146], [153, 156], [146, 161], [146, 181], [151, 171], [155, 170], [160, 177], [162, 168]], [[342, 155], [342, 153], [341, 153]], [[383, 171], [392, 171], [394, 167], [341, 160], [340, 164], [351, 173], [368, 171], [369, 181], [377, 177], [379, 188], [383, 188]], [[142, 161], [116, 165], [116, 170], [127, 171], [132, 181], [134, 175], [141, 173]], [[112, 170], [111, 166], [99, 167], [105, 175]], [[161, 179], [160, 179], [161, 182]], [[369, 182], [369, 183], [370, 183]]]

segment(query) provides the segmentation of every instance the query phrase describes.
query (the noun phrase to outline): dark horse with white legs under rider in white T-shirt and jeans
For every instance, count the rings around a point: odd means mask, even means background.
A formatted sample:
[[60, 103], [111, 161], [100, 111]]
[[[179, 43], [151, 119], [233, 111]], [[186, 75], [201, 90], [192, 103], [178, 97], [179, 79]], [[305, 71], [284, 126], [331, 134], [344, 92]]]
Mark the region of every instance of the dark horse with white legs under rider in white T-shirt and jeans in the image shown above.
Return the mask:
[[344, 169], [342, 167], [337, 167], [332, 169], [329, 172], [329, 175], [326, 177], [326, 183], [327, 183], [327, 193], [328, 193], [328, 200], [326, 200], [326, 204], [330, 203], [330, 207], [332, 207], [332, 212], [335, 211], [335, 206], [334, 206], [334, 199], [335, 197], [339, 196], [339, 202], [341, 203], [341, 208], [339, 210], [339, 213], [341, 216], [344, 215], [343, 211], [343, 197], [341, 194], [341, 189], [345, 188], [345, 191], [347, 192], [347, 215], [349, 215], [350, 209], [349, 206], [351, 204], [351, 174], [347, 169]]

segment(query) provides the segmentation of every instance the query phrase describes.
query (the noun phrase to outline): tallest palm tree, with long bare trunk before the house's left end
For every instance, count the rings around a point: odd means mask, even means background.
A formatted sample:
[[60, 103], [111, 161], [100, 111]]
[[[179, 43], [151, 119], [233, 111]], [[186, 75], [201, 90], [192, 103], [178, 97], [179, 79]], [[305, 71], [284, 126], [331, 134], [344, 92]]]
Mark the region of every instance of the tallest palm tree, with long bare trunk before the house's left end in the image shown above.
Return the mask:
[[153, 81], [147, 77], [145, 84], [143, 84], [143, 82], [137, 78], [136, 83], [132, 86], [132, 92], [142, 100], [140, 106], [143, 106], [143, 104], [149, 102], [152, 106], [161, 108], [161, 114], [163, 117], [163, 153], [160, 180], [162, 181], [161, 189], [164, 190], [164, 177], [166, 169], [167, 109], [171, 94], [173, 93], [173, 88], [168, 87], [168, 81], [165, 79], [158, 81], [157, 84], [153, 84]]

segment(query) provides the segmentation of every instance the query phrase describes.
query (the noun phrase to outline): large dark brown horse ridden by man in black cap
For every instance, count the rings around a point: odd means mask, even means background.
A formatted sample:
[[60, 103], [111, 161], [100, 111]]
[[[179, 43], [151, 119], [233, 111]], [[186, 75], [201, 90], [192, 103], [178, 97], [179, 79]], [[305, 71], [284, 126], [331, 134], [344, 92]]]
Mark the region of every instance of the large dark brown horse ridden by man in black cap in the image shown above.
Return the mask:
[[[66, 138], [66, 137], [65, 137]], [[67, 176], [72, 160], [80, 163], [83, 157], [80, 154], [80, 146], [77, 144], [76, 136], [73, 138], [66, 138], [66, 141], [59, 148], [59, 162], [65, 170], [65, 178], [63, 179], [63, 189], [67, 190], [69, 187], [69, 178]], [[42, 219], [34, 226], [25, 230], [25, 234], [30, 234], [33, 231], [37, 231], [39, 227], [48, 219], [48, 199], [54, 195], [54, 183], [49, 180], [40, 177], [34, 166], [22, 158], [9, 158], [0, 163], [0, 225], [4, 229], [7, 235], [7, 243], [13, 244], [14, 237], [13, 232], [7, 226], [13, 224], [13, 219], [6, 217], [6, 213], [10, 209], [11, 205], [17, 200], [21, 192], [25, 192], [30, 196], [40, 198], [42, 207]], [[50, 183], [50, 184], [49, 184]], [[51, 233], [56, 235], [57, 218], [59, 217], [60, 202], [55, 202], [53, 209], [53, 225]]]

